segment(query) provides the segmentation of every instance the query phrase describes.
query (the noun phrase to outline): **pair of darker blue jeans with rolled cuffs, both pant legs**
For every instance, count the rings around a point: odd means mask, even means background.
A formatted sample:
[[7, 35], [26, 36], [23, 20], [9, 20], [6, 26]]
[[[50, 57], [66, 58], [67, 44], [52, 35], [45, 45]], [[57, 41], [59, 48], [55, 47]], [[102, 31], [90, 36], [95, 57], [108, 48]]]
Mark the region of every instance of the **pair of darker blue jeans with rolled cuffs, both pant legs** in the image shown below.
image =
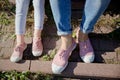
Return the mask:
[[[105, 11], [110, 0], [86, 0], [80, 30], [93, 31], [94, 25]], [[71, 34], [71, 0], [50, 0], [58, 35]]]

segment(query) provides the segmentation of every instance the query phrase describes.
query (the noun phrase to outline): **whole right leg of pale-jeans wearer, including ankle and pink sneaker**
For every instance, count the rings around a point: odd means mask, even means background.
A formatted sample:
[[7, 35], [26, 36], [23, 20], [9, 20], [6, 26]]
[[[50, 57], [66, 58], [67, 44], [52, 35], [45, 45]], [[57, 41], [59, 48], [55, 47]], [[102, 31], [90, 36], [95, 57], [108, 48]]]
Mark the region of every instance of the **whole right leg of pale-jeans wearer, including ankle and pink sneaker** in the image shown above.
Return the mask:
[[41, 32], [44, 24], [44, 3], [45, 0], [33, 0], [34, 6], [34, 37], [32, 45], [32, 53], [34, 56], [40, 56], [43, 51], [43, 45], [41, 42]]

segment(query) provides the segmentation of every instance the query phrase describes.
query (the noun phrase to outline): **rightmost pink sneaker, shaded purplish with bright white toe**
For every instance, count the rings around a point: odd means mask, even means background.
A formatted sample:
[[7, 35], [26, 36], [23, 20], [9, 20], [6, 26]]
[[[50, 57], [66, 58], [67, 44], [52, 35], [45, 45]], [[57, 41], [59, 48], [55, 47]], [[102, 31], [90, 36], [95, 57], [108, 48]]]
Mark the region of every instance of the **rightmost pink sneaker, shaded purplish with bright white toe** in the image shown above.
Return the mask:
[[79, 48], [79, 55], [85, 63], [91, 63], [94, 61], [95, 55], [89, 39], [84, 42], [79, 42]]

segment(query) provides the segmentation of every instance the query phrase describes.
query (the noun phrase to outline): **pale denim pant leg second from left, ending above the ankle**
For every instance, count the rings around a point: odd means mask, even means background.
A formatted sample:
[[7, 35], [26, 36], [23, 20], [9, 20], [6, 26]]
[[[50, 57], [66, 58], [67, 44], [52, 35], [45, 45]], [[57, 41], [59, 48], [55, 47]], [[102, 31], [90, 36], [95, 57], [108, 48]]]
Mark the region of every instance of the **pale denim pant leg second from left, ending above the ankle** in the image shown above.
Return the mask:
[[45, 0], [33, 0], [33, 6], [34, 6], [34, 22], [35, 27], [34, 29], [43, 29], [44, 24], [44, 9]]

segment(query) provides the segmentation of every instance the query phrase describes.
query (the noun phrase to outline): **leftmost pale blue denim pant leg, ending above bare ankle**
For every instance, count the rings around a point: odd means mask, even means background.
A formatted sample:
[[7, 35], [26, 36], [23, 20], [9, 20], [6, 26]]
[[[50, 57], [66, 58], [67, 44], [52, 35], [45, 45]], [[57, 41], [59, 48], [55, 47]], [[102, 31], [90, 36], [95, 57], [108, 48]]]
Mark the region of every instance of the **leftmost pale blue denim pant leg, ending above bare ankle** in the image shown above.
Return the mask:
[[30, 0], [16, 0], [15, 33], [24, 34]]

